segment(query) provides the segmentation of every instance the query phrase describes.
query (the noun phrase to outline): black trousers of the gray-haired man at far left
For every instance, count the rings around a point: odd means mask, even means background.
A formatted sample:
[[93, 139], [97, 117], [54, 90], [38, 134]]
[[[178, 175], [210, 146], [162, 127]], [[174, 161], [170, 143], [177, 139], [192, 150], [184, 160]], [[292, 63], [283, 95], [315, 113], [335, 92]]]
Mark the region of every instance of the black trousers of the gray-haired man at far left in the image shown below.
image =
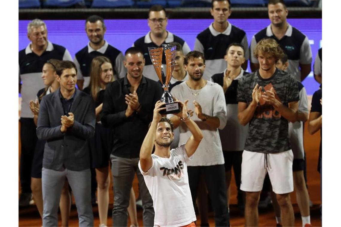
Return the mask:
[[31, 193], [31, 168], [37, 140], [33, 118], [20, 118], [20, 184], [22, 193]]

